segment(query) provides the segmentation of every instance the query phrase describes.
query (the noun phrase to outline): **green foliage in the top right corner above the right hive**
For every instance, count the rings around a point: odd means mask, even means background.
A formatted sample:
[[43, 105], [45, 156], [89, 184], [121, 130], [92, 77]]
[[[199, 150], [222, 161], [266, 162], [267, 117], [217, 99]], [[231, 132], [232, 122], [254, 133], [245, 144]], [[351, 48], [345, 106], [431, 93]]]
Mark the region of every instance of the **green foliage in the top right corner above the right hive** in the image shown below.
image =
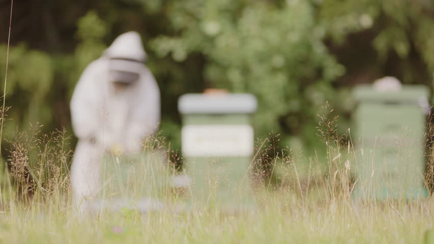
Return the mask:
[[[428, 70], [434, 70], [432, 1], [324, 0], [317, 7], [319, 23], [334, 41], [343, 43], [349, 34], [372, 31], [374, 38], [366, 45], [375, 48], [379, 64], [393, 54], [410, 59], [417, 52]], [[404, 70], [404, 82], [419, 83], [411, 73], [411, 68]]]

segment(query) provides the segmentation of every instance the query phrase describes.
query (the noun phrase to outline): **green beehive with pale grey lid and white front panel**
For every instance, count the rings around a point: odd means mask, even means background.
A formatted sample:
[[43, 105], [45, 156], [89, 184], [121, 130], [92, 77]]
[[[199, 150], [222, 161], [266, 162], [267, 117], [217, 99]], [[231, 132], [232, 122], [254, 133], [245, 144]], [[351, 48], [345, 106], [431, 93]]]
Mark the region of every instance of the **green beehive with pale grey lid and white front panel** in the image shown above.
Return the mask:
[[238, 211], [254, 206], [250, 183], [254, 134], [250, 94], [186, 94], [180, 97], [182, 153], [190, 202]]

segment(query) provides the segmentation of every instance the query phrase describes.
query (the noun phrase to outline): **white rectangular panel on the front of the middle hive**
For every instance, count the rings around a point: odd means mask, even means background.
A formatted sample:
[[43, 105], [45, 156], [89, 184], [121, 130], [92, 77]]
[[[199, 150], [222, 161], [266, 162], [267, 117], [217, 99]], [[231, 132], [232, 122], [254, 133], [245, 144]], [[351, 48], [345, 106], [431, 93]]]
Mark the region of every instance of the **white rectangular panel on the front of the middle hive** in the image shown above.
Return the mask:
[[251, 156], [250, 125], [187, 125], [182, 128], [182, 153], [190, 157]]

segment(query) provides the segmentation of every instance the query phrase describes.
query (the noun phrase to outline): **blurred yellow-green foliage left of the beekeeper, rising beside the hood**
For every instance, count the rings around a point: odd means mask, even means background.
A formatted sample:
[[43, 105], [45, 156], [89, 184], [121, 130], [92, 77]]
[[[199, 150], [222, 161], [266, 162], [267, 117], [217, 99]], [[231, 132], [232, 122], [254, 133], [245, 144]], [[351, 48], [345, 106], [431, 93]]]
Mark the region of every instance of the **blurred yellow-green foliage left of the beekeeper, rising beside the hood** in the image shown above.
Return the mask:
[[[16, 132], [29, 130], [29, 123], [44, 125], [45, 132], [65, 126], [53, 121], [56, 110], [69, 111], [65, 105], [69, 105], [69, 96], [80, 74], [106, 48], [102, 42], [106, 27], [95, 12], [80, 18], [77, 25], [76, 34], [81, 42], [72, 55], [49, 55], [31, 50], [25, 44], [10, 48], [6, 100], [12, 106], [8, 111], [11, 119], [5, 123], [7, 139], [11, 139]], [[6, 52], [7, 45], [1, 45], [2, 56], [6, 56]], [[6, 59], [1, 59], [2, 74], [5, 69]], [[57, 100], [56, 92], [65, 89], [68, 93], [61, 95], [64, 103], [56, 106], [53, 104]]]

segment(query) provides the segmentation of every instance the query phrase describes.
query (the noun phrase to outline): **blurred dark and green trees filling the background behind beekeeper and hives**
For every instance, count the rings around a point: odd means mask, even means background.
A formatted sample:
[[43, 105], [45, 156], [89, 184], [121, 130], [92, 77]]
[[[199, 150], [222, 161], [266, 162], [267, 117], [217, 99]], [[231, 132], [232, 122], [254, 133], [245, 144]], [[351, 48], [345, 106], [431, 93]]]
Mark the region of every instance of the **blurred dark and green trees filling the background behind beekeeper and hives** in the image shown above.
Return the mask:
[[[2, 78], [10, 4], [0, 3]], [[142, 35], [160, 86], [160, 129], [172, 150], [180, 148], [178, 97], [204, 88], [256, 95], [256, 136], [275, 131], [281, 145], [309, 151], [321, 143], [316, 114], [326, 101], [347, 130], [352, 86], [386, 75], [432, 86], [432, 0], [15, 1], [6, 139], [37, 122], [71, 132], [81, 72], [131, 30]]]

